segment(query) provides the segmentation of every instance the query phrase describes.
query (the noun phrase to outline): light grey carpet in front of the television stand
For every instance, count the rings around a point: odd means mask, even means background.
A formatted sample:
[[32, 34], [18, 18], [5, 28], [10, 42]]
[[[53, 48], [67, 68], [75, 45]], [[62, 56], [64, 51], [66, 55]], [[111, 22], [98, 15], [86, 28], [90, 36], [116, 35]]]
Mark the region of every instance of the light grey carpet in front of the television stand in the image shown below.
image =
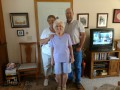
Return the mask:
[[94, 78], [89, 79], [88, 77], [82, 77], [81, 83], [85, 90], [94, 90], [99, 88], [104, 84], [111, 84], [118, 86], [118, 81], [120, 81], [120, 76], [115, 77], [105, 77], [105, 78]]

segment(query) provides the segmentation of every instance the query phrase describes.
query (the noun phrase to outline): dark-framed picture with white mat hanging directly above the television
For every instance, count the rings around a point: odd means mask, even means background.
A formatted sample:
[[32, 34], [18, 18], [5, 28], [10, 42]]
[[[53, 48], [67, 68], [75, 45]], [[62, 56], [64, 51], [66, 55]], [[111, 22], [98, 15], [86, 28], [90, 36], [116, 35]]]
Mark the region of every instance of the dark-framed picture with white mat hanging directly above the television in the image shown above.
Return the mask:
[[97, 13], [97, 28], [107, 27], [108, 13]]

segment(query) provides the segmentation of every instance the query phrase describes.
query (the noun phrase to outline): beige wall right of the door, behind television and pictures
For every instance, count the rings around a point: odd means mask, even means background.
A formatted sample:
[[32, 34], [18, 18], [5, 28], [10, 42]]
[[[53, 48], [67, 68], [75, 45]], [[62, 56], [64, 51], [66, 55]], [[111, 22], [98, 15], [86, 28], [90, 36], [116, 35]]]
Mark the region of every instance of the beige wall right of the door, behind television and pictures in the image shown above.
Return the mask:
[[120, 39], [120, 23], [112, 23], [114, 9], [120, 9], [120, 0], [74, 0], [75, 19], [77, 13], [89, 13], [89, 28], [86, 29], [85, 46], [88, 46], [89, 43], [90, 28], [96, 28], [97, 13], [108, 13], [108, 28], [114, 28], [115, 39]]

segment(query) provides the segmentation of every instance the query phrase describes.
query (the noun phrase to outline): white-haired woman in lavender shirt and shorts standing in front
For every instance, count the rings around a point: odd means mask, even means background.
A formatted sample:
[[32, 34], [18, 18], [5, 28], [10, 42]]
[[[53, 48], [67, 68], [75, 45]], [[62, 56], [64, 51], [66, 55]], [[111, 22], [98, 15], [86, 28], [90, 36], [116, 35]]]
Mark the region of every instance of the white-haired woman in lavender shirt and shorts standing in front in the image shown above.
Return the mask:
[[71, 72], [71, 63], [74, 62], [72, 42], [69, 34], [64, 33], [64, 23], [61, 20], [56, 20], [53, 28], [56, 34], [49, 42], [52, 48], [51, 64], [54, 65], [58, 81], [57, 90], [61, 90], [61, 88], [62, 90], [66, 90], [68, 73]]

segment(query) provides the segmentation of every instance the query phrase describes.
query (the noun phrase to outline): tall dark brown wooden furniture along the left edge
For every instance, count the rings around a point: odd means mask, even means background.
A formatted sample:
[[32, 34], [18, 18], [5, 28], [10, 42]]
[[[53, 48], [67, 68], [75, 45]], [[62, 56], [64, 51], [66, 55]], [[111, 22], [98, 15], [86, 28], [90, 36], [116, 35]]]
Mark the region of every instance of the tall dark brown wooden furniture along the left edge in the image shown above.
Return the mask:
[[5, 37], [2, 4], [0, 0], [0, 84], [3, 83], [4, 72], [3, 69], [8, 63], [7, 43]]

